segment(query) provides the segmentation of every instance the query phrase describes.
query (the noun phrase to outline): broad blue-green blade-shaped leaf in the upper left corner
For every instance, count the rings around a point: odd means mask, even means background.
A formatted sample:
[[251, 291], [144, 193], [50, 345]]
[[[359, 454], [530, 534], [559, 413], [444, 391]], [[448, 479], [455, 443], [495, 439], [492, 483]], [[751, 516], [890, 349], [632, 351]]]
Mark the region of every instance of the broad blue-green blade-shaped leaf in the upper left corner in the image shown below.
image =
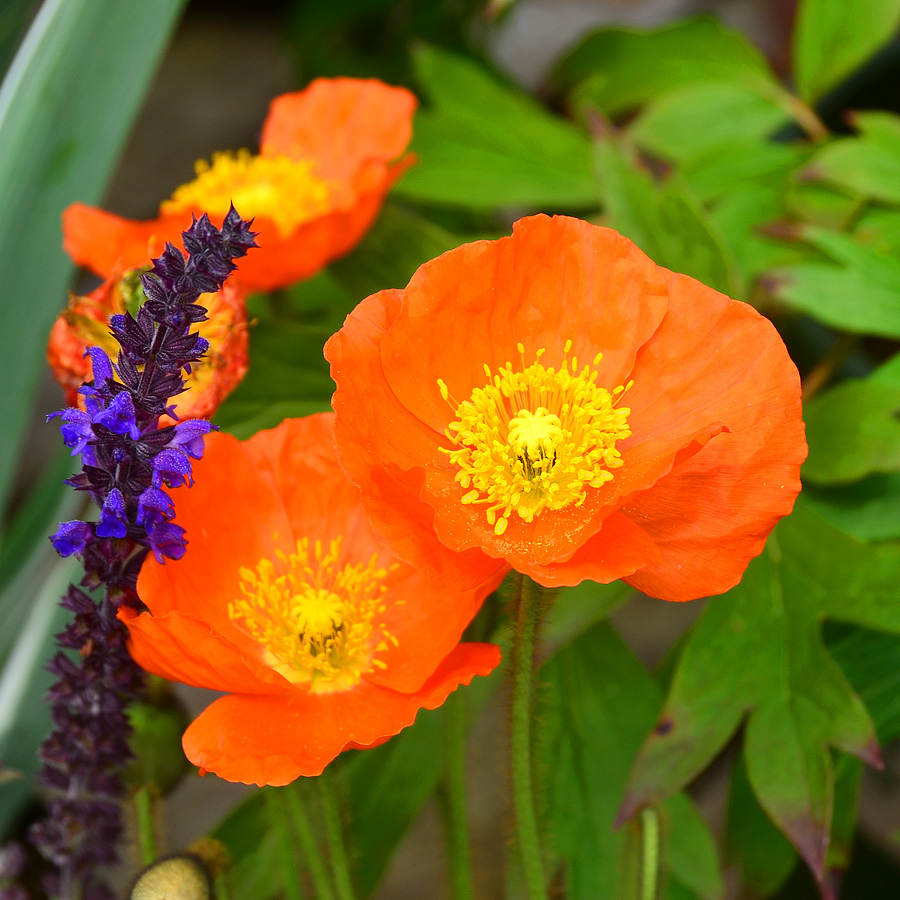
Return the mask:
[[183, 5], [48, 0], [0, 87], [0, 518], [72, 272], [60, 213], [100, 200]]

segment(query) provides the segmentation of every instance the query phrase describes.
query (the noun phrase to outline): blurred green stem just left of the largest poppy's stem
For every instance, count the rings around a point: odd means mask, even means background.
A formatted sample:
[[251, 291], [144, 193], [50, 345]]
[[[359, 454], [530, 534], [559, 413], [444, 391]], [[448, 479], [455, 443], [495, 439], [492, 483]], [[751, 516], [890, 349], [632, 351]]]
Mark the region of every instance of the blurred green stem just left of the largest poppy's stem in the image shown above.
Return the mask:
[[472, 860], [469, 853], [469, 826], [466, 815], [466, 723], [463, 697], [454, 691], [444, 704], [445, 778], [441, 791], [450, 896], [472, 900]]

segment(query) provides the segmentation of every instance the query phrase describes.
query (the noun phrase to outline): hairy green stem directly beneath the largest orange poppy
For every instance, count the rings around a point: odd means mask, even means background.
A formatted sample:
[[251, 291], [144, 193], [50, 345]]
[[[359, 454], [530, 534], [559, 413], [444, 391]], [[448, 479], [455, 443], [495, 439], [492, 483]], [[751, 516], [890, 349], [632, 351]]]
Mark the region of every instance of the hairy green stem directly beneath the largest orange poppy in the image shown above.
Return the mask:
[[534, 639], [541, 589], [530, 578], [519, 583], [516, 634], [513, 643], [512, 782], [516, 836], [529, 900], [545, 900], [544, 864], [534, 808], [531, 762], [531, 718], [534, 708]]

